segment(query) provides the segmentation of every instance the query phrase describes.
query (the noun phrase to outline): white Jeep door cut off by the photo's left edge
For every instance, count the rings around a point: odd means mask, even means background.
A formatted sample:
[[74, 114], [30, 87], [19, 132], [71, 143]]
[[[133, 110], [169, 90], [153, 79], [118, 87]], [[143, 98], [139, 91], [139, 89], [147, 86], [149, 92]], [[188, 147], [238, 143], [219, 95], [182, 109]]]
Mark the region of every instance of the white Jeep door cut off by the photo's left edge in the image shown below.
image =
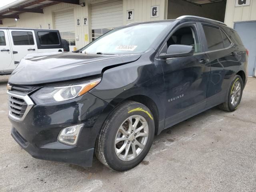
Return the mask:
[[0, 29], [0, 71], [7, 70], [12, 63], [12, 52], [6, 29]]

